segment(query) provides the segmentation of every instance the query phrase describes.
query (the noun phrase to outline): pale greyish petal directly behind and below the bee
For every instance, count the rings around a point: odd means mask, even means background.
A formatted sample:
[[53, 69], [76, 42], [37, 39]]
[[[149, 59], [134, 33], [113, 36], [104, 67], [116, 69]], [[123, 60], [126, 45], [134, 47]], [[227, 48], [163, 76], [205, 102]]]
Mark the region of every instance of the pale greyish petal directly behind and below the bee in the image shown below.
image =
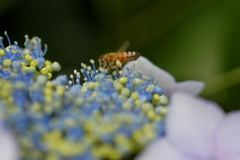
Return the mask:
[[153, 75], [158, 85], [163, 88], [164, 95], [170, 98], [172, 91], [175, 86], [175, 79], [168, 72], [162, 70], [161, 68], [154, 65], [145, 57], [141, 56], [138, 60], [129, 62], [123, 67], [123, 74], [127, 74], [127, 67], [131, 67], [135, 64], [135, 69], [140, 70], [142, 75], [148, 76], [149, 78]]

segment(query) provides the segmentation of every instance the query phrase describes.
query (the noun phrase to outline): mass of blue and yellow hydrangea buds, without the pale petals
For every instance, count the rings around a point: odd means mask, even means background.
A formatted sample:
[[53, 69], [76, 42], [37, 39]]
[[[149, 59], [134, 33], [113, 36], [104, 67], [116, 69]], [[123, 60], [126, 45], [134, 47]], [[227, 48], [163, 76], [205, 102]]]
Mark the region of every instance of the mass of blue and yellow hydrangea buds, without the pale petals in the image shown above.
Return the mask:
[[107, 74], [81, 64], [69, 78], [44, 59], [40, 38], [25, 48], [0, 41], [0, 103], [24, 160], [131, 159], [164, 136], [168, 98], [135, 66]]

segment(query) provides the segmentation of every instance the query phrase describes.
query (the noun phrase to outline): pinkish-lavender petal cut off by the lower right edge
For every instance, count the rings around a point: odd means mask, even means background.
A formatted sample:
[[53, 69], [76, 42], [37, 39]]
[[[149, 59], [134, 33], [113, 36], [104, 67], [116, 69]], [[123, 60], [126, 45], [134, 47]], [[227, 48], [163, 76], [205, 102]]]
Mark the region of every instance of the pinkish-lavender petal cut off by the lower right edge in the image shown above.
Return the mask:
[[229, 113], [215, 132], [215, 155], [219, 160], [240, 160], [240, 111]]

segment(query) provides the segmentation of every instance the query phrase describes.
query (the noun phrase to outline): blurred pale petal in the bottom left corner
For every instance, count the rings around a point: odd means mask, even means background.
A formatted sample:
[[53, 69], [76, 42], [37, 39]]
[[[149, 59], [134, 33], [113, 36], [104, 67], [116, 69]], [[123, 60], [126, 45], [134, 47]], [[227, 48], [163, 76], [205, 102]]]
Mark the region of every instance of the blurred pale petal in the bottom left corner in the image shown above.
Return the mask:
[[16, 140], [12, 134], [0, 126], [0, 159], [1, 160], [18, 160], [18, 148]]

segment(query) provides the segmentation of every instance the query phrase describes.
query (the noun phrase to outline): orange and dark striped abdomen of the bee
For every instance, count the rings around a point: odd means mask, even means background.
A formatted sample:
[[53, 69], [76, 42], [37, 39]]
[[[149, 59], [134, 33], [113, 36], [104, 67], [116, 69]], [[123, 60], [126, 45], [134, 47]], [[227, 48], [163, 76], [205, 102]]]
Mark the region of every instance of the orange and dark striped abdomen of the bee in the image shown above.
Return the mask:
[[141, 56], [140, 53], [134, 51], [118, 52], [117, 55], [121, 63], [135, 61]]

